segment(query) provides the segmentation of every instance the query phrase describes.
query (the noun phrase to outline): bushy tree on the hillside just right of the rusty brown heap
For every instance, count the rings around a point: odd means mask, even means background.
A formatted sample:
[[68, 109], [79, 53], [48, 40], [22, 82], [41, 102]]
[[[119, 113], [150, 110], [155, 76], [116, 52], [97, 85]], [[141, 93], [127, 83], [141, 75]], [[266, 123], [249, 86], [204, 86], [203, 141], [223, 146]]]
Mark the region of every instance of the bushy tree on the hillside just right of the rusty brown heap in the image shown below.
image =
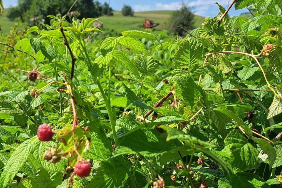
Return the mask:
[[192, 8], [183, 2], [181, 8], [174, 11], [170, 17], [170, 30], [175, 35], [183, 36], [185, 31], [179, 28], [179, 26], [183, 27], [185, 30], [194, 28], [194, 14], [192, 13]]

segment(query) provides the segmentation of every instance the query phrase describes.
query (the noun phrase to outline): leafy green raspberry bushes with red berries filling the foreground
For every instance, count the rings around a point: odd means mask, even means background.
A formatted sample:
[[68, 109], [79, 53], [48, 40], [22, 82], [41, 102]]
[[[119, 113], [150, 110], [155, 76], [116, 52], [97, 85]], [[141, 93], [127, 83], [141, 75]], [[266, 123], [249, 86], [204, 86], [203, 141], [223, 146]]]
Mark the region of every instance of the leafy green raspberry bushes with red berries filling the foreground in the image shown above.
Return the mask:
[[49, 16], [0, 52], [0, 187], [281, 187], [282, 1], [183, 39]]

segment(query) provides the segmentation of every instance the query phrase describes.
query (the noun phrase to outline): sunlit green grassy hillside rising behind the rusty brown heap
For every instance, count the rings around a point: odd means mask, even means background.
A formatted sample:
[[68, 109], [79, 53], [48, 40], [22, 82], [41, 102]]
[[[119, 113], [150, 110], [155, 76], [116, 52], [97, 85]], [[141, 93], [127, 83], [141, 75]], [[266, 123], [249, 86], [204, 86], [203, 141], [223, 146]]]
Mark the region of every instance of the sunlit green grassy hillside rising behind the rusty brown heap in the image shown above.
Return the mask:
[[[99, 19], [104, 24], [104, 29], [117, 33], [125, 30], [144, 30], [143, 20], [150, 19], [160, 24], [155, 27], [155, 32], [167, 30], [169, 17], [173, 11], [142, 11], [135, 12], [134, 16], [122, 16], [120, 11], [114, 11], [114, 16], [101, 16]], [[195, 15], [195, 27], [201, 26], [204, 17]]]

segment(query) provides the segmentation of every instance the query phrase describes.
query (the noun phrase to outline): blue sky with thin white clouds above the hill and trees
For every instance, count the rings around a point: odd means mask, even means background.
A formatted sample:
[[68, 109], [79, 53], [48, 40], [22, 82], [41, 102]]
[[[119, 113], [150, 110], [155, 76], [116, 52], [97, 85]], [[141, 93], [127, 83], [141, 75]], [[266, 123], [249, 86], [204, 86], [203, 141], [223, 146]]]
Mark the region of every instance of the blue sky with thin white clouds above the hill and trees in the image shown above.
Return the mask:
[[[109, 0], [99, 0], [100, 3], [109, 2]], [[194, 7], [194, 13], [200, 16], [216, 16], [218, 13], [218, 6], [215, 2], [218, 2], [225, 8], [231, 3], [232, 0], [186, 0], [184, 1], [189, 6]], [[17, 0], [4, 0], [5, 7], [16, 5]], [[149, 10], [176, 10], [181, 4], [181, 0], [111, 0], [110, 6], [114, 10], [120, 10], [123, 4], [130, 5], [134, 11], [149, 11]], [[229, 11], [230, 16], [236, 16], [243, 12], [247, 12], [247, 9], [235, 10], [234, 7]]]

